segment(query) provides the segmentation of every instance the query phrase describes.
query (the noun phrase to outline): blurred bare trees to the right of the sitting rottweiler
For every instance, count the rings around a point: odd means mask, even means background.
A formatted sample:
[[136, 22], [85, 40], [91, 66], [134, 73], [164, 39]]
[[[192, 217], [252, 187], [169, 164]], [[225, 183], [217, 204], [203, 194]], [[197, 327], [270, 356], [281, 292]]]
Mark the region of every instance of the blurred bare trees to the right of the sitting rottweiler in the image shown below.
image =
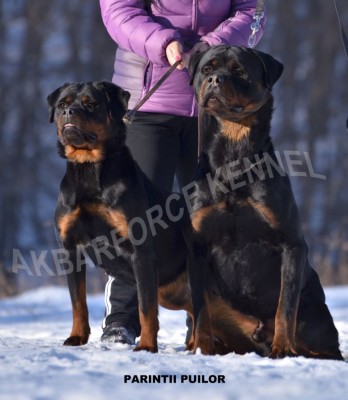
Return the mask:
[[[347, 274], [348, 63], [333, 2], [267, 2], [262, 46], [285, 64], [276, 88], [278, 148], [308, 152], [325, 181], [293, 178], [314, 266], [326, 283]], [[341, 7], [342, 19], [348, 10]], [[348, 24], [347, 24], [348, 26]]]

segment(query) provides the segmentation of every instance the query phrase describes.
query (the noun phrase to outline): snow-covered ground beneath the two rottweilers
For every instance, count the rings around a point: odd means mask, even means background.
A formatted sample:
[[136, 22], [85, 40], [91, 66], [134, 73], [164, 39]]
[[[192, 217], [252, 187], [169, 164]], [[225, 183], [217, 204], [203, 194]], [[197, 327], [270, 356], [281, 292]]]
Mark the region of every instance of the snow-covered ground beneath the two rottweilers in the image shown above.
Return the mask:
[[[348, 287], [326, 289], [348, 359]], [[159, 354], [134, 353], [99, 341], [103, 296], [88, 299], [88, 345], [62, 346], [71, 309], [64, 288], [43, 288], [0, 301], [0, 399], [272, 400], [343, 399], [348, 361], [270, 360], [255, 354], [191, 355], [184, 351], [185, 314], [161, 309]], [[176, 383], [124, 383], [125, 375], [175, 375]], [[182, 375], [224, 375], [225, 383], [181, 383]], [[199, 397], [198, 397], [199, 396]]]

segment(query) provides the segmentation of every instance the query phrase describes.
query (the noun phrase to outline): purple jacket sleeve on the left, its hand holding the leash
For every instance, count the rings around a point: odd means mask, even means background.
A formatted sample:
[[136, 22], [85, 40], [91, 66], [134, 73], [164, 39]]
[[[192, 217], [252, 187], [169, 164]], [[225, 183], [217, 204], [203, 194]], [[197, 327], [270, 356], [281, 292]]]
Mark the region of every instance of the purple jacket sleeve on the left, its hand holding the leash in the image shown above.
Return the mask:
[[180, 41], [175, 29], [156, 23], [141, 0], [100, 0], [101, 15], [111, 38], [124, 50], [155, 64], [167, 65], [167, 45]]

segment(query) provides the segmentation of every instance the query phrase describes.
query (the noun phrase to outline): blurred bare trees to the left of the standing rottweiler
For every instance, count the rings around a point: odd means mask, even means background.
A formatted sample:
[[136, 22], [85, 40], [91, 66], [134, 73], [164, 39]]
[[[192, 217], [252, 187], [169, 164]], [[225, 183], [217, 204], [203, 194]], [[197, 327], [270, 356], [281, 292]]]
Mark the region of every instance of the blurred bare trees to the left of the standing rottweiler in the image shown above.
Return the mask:
[[93, 0], [0, 0], [0, 40], [1, 295], [15, 292], [16, 282], [43, 280], [15, 279], [13, 249], [30, 265], [30, 251], [56, 247], [53, 213], [64, 162], [56, 154], [46, 96], [66, 81], [111, 77], [114, 44]]

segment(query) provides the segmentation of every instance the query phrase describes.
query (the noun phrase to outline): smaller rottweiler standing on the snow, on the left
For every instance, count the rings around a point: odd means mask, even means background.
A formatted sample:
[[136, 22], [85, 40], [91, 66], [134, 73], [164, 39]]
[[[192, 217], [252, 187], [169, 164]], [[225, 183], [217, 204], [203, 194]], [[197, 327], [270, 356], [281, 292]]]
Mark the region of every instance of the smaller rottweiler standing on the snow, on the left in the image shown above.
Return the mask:
[[87, 82], [65, 84], [47, 98], [58, 152], [67, 160], [55, 216], [73, 309], [64, 344], [83, 345], [90, 334], [88, 256], [121, 279], [123, 271], [133, 272], [141, 323], [135, 350], [157, 352], [159, 302], [189, 312], [197, 326], [189, 347], [211, 353], [209, 325], [199, 324], [207, 311], [185, 233], [190, 217], [179, 195], [155, 187], [126, 147], [122, 117], [129, 96], [112, 83]]

